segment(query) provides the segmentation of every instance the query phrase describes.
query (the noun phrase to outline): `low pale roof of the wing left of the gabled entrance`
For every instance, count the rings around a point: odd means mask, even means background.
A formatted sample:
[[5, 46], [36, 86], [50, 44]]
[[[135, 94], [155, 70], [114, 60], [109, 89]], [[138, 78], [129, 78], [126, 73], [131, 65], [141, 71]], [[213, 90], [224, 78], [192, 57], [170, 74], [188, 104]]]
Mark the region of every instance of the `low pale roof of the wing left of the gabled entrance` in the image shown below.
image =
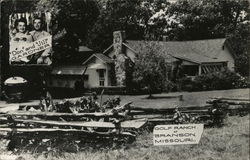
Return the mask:
[[83, 75], [85, 66], [60, 66], [54, 67], [51, 71], [53, 75]]

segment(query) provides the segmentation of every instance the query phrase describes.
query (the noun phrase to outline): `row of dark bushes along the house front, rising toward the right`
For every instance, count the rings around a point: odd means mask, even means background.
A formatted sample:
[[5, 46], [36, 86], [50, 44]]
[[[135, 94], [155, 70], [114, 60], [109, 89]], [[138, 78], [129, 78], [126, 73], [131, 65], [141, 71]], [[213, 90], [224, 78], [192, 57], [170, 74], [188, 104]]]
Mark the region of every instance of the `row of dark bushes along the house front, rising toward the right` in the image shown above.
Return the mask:
[[[128, 94], [147, 94], [148, 88], [140, 88], [139, 84], [133, 84], [127, 89]], [[175, 92], [175, 91], [208, 91], [226, 90], [236, 88], [248, 88], [250, 82], [248, 78], [242, 77], [238, 73], [224, 70], [202, 74], [195, 78], [183, 77], [176, 83], [166, 80], [163, 85], [152, 88], [152, 93]]]

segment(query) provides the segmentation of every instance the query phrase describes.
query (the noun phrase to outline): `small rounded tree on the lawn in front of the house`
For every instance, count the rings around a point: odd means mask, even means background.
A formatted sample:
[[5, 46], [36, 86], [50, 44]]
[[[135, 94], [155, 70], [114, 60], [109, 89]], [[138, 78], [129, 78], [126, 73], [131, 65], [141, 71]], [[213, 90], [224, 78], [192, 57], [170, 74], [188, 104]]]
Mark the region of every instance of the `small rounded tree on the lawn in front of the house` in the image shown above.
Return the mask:
[[157, 43], [145, 42], [139, 51], [134, 66], [133, 81], [137, 87], [147, 88], [151, 98], [153, 92], [165, 88], [167, 63]]

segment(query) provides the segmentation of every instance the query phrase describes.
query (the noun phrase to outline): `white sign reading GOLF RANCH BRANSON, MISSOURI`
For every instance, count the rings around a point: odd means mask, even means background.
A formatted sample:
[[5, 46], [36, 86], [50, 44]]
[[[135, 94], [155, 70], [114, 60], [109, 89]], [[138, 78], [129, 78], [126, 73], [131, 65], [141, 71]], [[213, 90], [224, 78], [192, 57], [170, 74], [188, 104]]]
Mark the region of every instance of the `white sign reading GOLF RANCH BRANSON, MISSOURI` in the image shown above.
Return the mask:
[[153, 131], [154, 145], [198, 144], [203, 124], [157, 125]]

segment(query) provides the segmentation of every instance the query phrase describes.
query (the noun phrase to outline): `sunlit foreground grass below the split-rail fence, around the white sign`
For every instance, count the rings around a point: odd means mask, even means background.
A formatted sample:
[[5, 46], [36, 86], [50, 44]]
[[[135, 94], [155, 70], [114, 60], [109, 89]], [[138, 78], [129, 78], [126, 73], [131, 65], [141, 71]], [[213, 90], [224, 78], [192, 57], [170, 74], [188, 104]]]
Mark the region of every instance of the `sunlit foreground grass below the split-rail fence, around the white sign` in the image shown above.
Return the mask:
[[136, 142], [118, 149], [86, 149], [59, 157], [20, 155], [25, 160], [249, 160], [249, 115], [228, 117], [221, 128], [206, 128], [197, 145], [153, 146], [152, 138], [152, 133], [145, 132]]

